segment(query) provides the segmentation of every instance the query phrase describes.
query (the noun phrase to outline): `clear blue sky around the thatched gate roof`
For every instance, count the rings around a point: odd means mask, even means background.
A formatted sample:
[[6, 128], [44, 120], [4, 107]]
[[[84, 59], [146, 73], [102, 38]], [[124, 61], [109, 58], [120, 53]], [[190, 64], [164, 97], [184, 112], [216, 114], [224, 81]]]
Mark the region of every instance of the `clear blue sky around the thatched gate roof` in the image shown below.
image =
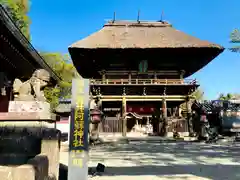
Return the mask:
[[[102, 28], [105, 20], [163, 19], [190, 35], [229, 47], [229, 34], [240, 28], [240, 0], [32, 0], [33, 45], [40, 51], [67, 53], [73, 42]], [[225, 50], [195, 73], [208, 99], [240, 93], [240, 53]]]

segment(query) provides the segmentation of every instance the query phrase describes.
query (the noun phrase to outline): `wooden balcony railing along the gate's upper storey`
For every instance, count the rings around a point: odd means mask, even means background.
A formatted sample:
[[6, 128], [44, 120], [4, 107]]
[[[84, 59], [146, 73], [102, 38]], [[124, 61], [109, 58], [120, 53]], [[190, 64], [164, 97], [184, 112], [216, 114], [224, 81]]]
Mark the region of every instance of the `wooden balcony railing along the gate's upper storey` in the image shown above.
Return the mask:
[[194, 79], [92, 79], [92, 85], [112, 85], [112, 84], [135, 84], [135, 85], [195, 85], [197, 81]]

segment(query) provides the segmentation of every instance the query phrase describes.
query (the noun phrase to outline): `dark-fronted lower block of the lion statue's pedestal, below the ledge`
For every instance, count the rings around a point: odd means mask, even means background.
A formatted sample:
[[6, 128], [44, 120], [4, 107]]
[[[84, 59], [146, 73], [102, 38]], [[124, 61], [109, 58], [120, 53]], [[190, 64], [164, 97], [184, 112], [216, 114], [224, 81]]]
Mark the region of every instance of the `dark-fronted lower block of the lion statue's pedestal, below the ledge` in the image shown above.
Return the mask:
[[[1, 173], [6, 172], [6, 166], [11, 167], [7, 169], [11, 172], [16, 171], [14, 168], [18, 168], [18, 171], [22, 171], [19, 174], [24, 174], [28, 172], [24, 172], [25, 169], [22, 167], [31, 165], [27, 166], [27, 169], [33, 171], [33, 174], [42, 172], [45, 178], [58, 179], [61, 136], [59, 130], [40, 127], [5, 127], [0, 128], [0, 135], [0, 177], [3, 177]], [[24, 177], [20, 176], [16, 180], [25, 180]], [[8, 179], [1, 178], [1, 180]], [[15, 177], [12, 180], [15, 180]]]

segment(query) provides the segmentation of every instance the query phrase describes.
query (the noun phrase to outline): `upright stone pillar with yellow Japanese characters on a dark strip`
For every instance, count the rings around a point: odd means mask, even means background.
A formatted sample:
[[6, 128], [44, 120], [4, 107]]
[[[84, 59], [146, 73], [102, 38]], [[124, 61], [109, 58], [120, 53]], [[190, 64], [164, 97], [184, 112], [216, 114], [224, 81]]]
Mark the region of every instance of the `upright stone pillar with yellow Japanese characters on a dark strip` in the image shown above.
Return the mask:
[[73, 79], [68, 180], [87, 179], [89, 80]]

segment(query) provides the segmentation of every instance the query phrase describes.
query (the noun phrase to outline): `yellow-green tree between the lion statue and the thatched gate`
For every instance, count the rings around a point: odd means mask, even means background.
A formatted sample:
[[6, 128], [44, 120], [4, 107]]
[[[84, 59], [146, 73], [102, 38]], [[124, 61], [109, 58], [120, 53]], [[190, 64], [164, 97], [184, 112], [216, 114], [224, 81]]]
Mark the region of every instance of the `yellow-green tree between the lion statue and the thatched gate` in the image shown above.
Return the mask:
[[59, 99], [68, 99], [71, 97], [72, 78], [77, 75], [77, 71], [73, 64], [68, 63], [68, 55], [46, 52], [40, 54], [53, 71], [62, 79], [56, 87], [48, 87], [44, 90], [48, 102], [51, 103], [51, 107], [54, 109], [58, 105]]

